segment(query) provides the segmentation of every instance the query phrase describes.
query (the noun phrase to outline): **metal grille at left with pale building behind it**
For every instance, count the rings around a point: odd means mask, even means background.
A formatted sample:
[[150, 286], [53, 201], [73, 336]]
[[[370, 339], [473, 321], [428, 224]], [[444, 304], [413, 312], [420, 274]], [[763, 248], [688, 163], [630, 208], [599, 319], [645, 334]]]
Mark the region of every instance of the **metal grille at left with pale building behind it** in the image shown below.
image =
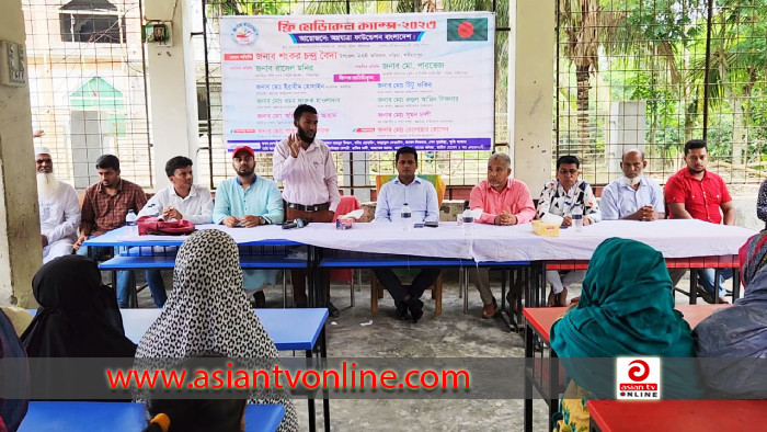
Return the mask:
[[140, 0], [23, 0], [32, 122], [59, 179], [83, 189], [113, 154], [152, 186]]

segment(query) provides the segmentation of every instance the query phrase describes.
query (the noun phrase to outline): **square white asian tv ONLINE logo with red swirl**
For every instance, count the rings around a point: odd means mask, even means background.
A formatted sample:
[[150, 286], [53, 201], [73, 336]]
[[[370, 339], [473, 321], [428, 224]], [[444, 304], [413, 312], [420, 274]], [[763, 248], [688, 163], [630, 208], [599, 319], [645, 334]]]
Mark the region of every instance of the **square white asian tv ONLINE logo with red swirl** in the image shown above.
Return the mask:
[[661, 359], [616, 359], [616, 398], [630, 400], [660, 399]]

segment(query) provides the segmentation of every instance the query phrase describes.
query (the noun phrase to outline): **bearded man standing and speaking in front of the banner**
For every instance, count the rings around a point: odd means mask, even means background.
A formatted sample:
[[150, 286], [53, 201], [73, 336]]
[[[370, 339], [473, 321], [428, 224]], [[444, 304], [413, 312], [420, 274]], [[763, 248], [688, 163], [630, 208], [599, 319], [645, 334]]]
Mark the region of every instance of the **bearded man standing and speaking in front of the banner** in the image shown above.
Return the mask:
[[[274, 147], [274, 180], [284, 182], [283, 198], [287, 219], [300, 218], [313, 223], [333, 221], [333, 214], [341, 202], [339, 173], [328, 145], [317, 139], [317, 110], [298, 105], [293, 113], [296, 134]], [[339, 309], [330, 303], [330, 274], [322, 281], [328, 310], [332, 317]], [[293, 302], [306, 307], [306, 270], [293, 270]]]

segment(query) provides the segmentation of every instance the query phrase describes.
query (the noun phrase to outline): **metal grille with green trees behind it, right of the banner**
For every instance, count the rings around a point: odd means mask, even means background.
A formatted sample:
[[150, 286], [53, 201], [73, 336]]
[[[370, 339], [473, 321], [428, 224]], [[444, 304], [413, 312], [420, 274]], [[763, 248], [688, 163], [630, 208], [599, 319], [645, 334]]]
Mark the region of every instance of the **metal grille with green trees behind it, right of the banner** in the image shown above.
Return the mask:
[[640, 147], [665, 183], [692, 138], [725, 182], [765, 175], [764, 1], [559, 0], [557, 25], [554, 157], [579, 156], [585, 180]]

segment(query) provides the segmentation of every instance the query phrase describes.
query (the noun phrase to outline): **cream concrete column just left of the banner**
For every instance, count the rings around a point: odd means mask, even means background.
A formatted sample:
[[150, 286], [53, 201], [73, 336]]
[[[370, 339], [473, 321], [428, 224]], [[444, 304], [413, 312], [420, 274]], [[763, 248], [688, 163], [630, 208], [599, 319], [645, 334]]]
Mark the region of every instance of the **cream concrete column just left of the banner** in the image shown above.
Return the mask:
[[170, 184], [165, 174], [168, 159], [186, 156], [195, 162], [195, 174], [199, 168], [196, 160], [197, 87], [190, 9], [186, 1], [146, 2], [147, 21], [172, 23], [172, 46], [147, 44], [156, 190]]

